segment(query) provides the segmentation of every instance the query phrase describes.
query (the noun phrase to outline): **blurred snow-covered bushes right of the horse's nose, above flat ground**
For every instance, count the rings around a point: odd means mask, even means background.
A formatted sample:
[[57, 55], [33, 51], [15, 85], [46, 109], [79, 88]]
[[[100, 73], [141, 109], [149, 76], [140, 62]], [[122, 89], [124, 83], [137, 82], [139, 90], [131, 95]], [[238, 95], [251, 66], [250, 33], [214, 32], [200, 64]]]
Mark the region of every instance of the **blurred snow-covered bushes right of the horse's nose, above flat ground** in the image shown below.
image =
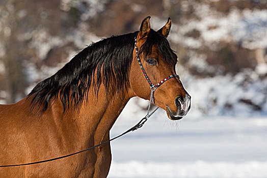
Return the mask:
[[[198, 70], [201, 70], [201, 65], [199, 67]], [[192, 96], [191, 114], [195, 116], [266, 115], [267, 78], [264, 75], [267, 70], [265, 64], [259, 65], [255, 71], [245, 69], [234, 76], [227, 74], [206, 78], [192, 76], [181, 68], [178, 67], [176, 71], [186, 91]], [[251, 104], [243, 101], [249, 101]], [[260, 109], [255, 109], [257, 106]]]

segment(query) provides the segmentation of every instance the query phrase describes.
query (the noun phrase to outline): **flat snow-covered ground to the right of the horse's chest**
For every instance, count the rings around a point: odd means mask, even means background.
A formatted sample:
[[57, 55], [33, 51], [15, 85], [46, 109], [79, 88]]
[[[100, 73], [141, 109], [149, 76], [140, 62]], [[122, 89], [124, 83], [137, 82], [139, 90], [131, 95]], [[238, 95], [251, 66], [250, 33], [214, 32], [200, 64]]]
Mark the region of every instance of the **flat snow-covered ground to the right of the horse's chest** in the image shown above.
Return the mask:
[[[111, 137], [145, 115], [132, 118], [128, 109]], [[193, 118], [189, 113], [173, 122], [163, 110], [156, 113], [143, 128], [111, 143], [108, 177], [267, 177], [266, 116]]]

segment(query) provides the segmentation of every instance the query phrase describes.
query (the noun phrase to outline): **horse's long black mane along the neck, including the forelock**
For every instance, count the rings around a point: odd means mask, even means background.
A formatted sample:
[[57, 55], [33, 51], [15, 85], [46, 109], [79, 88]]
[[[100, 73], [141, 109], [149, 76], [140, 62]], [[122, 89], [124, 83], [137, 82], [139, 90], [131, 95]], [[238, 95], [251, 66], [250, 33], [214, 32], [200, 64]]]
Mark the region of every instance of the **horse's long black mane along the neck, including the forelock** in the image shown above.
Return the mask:
[[[28, 95], [34, 96], [32, 108], [37, 106], [40, 113], [43, 113], [59, 96], [63, 104], [63, 114], [70, 106], [79, 109], [85, 96], [88, 99], [90, 86], [94, 87], [97, 94], [102, 82], [106, 92], [121, 92], [128, 85], [134, 38], [137, 34], [138, 32], [112, 36], [83, 49], [56, 74], [33, 88]], [[157, 44], [164, 61], [176, 63], [175, 54], [167, 39], [152, 29], [140, 52], [145, 56], [149, 55], [154, 44]]]

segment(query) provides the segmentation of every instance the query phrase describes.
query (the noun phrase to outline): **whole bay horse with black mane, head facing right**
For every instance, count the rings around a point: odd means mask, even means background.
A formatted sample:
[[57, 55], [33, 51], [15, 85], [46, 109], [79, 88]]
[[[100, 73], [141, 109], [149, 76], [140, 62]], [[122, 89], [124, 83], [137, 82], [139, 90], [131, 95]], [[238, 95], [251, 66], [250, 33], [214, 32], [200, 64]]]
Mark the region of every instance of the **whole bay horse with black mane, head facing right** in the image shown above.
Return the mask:
[[[150, 99], [146, 75], [150, 83], [176, 76], [177, 55], [167, 41], [171, 19], [157, 32], [149, 19], [142, 21], [138, 32], [91, 44], [27, 97], [0, 105], [0, 165], [56, 158], [109, 140], [128, 100]], [[165, 109], [171, 120], [188, 113], [190, 99], [178, 77], [154, 92], [155, 105]], [[0, 176], [106, 177], [110, 165], [111, 148], [106, 143], [61, 160], [1, 167]]]

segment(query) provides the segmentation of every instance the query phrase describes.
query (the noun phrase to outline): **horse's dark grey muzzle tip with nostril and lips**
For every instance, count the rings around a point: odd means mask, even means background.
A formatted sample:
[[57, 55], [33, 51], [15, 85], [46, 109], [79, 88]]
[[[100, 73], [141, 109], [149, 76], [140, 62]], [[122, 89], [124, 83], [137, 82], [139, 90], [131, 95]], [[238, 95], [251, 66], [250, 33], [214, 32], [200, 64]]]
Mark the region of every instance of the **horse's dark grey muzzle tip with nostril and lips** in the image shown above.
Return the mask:
[[183, 97], [176, 97], [174, 100], [176, 111], [173, 112], [167, 106], [167, 115], [171, 120], [180, 120], [183, 116], [185, 116], [189, 109], [191, 108], [191, 97], [188, 94], [185, 94], [185, 98]]

